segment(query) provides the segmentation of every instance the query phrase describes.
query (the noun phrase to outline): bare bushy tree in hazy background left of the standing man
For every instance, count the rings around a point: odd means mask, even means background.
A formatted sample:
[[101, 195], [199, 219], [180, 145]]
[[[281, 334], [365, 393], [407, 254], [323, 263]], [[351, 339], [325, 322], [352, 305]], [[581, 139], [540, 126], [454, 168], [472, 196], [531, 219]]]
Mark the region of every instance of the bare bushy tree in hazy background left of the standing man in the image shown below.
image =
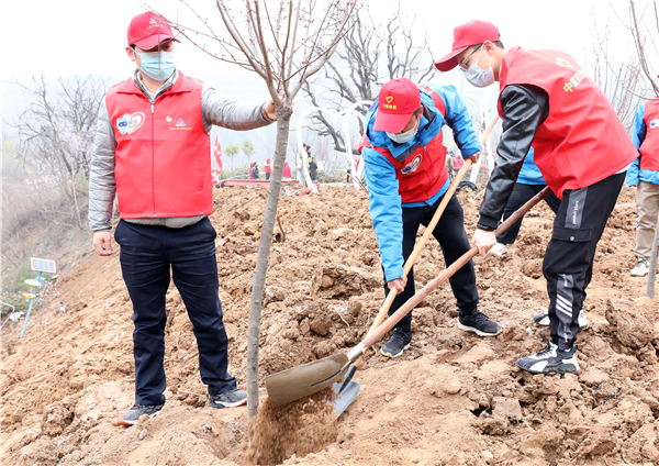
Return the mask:
[[82, 229], [78, 198], [89, 179], [97, 115], [108, 80], [90, 75], [47, 82], [42, 75], [30, 85], [13, 85], [27, 93], [27, 110], [9, 123], [19, 131], [19, 158], [36, 167], [33, 182], [62, 187]]

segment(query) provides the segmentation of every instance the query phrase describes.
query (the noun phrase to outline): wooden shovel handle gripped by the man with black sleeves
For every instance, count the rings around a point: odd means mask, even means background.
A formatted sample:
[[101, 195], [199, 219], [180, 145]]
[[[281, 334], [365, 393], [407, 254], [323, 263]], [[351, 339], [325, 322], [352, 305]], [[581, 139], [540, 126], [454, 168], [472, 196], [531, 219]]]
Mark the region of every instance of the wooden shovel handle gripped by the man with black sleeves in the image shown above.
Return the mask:
[[[517, 211], [515, 211], [510, 218], [506, 219], [494, 232], [498, 236], [506, 231], [513, 223], [515, 223], [520, 218], [522, 218], [528, 210], [530, 210], [535, 204], [545, 199], [547, 195], [549, 195], [549, 188], [546, 187], [540, 192], [538, 192], [533, 199], [522, 206]], [[422, 290], [420, 290], [416, 295], [407, 300], [401, 308], [391, 315], [384, 324], [382, 324], [379, 329], [369, 333], [366, 339], [355, 346], [348, 353], [348, 359], [355, 360], [364, 354], [364, 351], [371, 347], [376, 342], [378, 342], [387, 332], [389, 332], [393, 326], [401, 321], [416, 304], [418, 304], [426, 296], [431, 293], [435, 288], [439, 285], [444, 284], [453, 275], [458, 271], [460, 268], [465, 266], [469, 260], [471, 260], [478, 254], [478, 247], [472, 246], [467, 253], [465, 253], [459, 259], [453, 263], [446, 270], [439, 274], [435, 279], [428, 282]]]

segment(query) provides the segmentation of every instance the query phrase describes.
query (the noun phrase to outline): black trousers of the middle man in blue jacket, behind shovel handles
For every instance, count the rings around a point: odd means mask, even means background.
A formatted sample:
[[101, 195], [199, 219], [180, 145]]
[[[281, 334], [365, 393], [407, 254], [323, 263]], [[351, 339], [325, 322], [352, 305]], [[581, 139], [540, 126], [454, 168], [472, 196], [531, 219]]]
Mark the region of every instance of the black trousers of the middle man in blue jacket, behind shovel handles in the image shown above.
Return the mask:
[[[437, 199], [433, 206], [403, 208], [404, 260], [407, 260], [407, 257], [410, 257], [412, 251], [414, 251], [418, 225], [427, 226], [428, 223], [431, 223], [433, 214], [442, 203], [442, 199], [444, 199], [444, 197]], [[465, 214], [462, 212], [462, 206], [460, 206], [460, 202], [455, 195], [446, 206], [446, 210], [442, 214], [437, 226], [435, 226], [433, 236], [439, 242], [439, 246], [444, 253], [446, 267], [469, 251], [469, 240], [467, 238], [467, 233], [465, 233]], [[460, 309], [460, 314], [468, 315], [473, 312], [478, 307], [478, 290], [476, 289], [473, 262], [469, 260], [468, 264], [449, 278], [449, 282], [454, 296], [456, 297], [457, 306]], [[404, 291], [399, 293], [393, 300], [391, 309], [389, 310], [389, 315], [393, 314], [405, 303], [405, 301], [412, 298], [415, 292], [413, 267], [410, 270], [410, 274], [407, 274], [407, 286]], [[387, 286], [387, 277], [384, 277], [384, 296], [388, 293], [389, 287]], [[405, 331], [407, 334], [412, 334], [412, 312], [405, 315], [395, 328]]]

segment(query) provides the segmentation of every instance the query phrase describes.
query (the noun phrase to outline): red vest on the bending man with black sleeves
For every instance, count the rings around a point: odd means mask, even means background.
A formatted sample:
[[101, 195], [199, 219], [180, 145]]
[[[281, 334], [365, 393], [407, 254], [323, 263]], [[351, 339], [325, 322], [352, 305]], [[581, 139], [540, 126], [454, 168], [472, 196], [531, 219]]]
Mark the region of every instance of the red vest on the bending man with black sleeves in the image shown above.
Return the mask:
[[[533, 147], [536, 165], [560, 199], [563, 190], [594, 185], [637, 157], [604, 92], [568, 54], [513, 47], [503, 59], [500, 85], [502, 91], [509, 85], [533, 85], [549, 96], [549, 115]], [[501, 99], [499, 114], [504, 116]]]

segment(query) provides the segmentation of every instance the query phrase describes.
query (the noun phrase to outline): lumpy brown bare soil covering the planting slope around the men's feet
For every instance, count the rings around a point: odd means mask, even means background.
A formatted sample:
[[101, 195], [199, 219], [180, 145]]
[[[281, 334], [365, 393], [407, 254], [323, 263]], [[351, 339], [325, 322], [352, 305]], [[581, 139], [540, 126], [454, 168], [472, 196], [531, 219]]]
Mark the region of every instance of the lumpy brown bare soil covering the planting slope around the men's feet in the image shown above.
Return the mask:
[[[239, 387], [245, 386], [249, 293], [266, 196], [263, 188], [214, 192], [220, 298], [230, 371]], [[469, 235], [480, 203], [473, 196], [459, 195]], [[659, 309], [657, 300], [643, 298], [646, 280], [629, 277], [634, 196], [625, 188], [597, 246], [578, 376], [532, 376], [514, 365], [549, 337], [532, 321], [548, 306], [541, 262], [554, 213], [543, 203], [526, 217], [504, 257], [474, 260], [480, 309], [504, 332], [480, 339], [457, 329], [455, 299], [448, 286], [442, 287], [413, 311], [414, 337], [404, 356], [368, 353], [355, 376], [361, 392], [333, 424], [337, 433], [323, 430], [327, 424], [316, 429], [313, 423], [323, 415], [311, 411], [298, 419], [301, 432], [319, 441], [301, 448], [286, 440], [286, 424], [272, 435], [278, 429], [272, 412], [250, 433], [245, 408], [208, 408], [192, 325], [174, 285], [167, 295], [167, 404], [139, 425], [114, 425], [133, 403], [132, 307], [119, 255], [89, 255], [60, 279], [60, 296], [43, 325], [31, 320], [24, 339], [18, 337], [22, 321], [2, 331], [1, 459], [12, 465], [239, 465], [250, 452], [249, 440], [255, 447], [272, 439], [270, 450], [252, 451], [246, 458], [319, 465], [659, 464]], [[317, 197], [283, 197], [279, 217], [286, 242], [276, 228], [261, 377], [349, 351], [384, 299], [365, 193], [325, 186]], [[417, 289], [445, 268], [434, 240], [414, 268]], [[326, 415], [323, 409], [319, 413]], [[259, 423], [268, 425], [259, 431]]]

